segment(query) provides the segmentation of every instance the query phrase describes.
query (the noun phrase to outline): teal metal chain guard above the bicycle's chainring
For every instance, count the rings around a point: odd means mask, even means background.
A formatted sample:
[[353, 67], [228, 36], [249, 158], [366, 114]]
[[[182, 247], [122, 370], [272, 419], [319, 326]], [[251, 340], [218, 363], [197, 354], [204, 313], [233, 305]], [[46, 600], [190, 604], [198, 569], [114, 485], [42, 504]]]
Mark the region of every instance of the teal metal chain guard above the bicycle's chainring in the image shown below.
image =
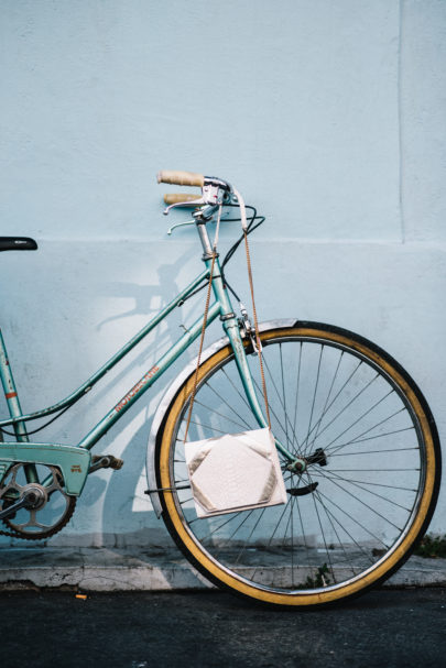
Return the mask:
[[76, 446], [55, 443], [0, 442], [0, 481], [14, 463], [57, 467], [68, 494], [78, 496], [90, 468], [91, 453]]

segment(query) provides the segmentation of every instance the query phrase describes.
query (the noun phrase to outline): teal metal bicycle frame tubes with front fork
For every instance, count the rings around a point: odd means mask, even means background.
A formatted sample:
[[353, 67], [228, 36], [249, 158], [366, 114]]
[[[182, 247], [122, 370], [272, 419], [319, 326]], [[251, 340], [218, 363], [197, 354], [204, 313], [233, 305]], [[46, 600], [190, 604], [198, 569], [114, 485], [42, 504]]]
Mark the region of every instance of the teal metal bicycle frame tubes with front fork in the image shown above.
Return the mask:
[[[0, 427], [12, 425], [18, 441], [29, 441], [25, 423], [42, 418], [46, 415], [56, 413], [74, 402], [78, 401], [84, 394], [88, 393], [94, 385], [118, 362], [120, 362], [138, 343], [140, 343], [153, 329], [155, 329], [167, 315], [186, 299], [196, 287], [206, 278], [209, 278], [211, 269], [211, 252], [207, 230], [204, 225], [197, 225], [205, 250], [204, 262], [206, 270], [199, 274], [185, 289], [183, 289], [170, 304], [167, 304], [145, 327], [143, 327], [123, 348], [121, 348], [104, 366], [93, 374], [83, 385], [73, 392], [65, 399], [35, 413], [23, 414], [20, 405], [18, 391], [15, 388], [11, 365], [8, 361], [8, 354], [3, 338], [0, 332], [0, 375], [3, 385], [4, 396], [10, 413], [9, 419], [0, 420]], [[226, 289], [220, 273], [220, 264], [216, 258], [213, 276], [213, 292], [215, 302], [208, 310], [208, 327], [217, 317], [220, 317], [222, 327], [229, 338], [232, 347], [237, 368], [240, 373], [247, 398], [260, 427], [266, 426], [262, 408], [259, 404], [250, 369], [248, 365], [244, 347], [241, 340], [239, 325], [232, 310], [231, 302]], [[124, 413], [161, 377], [161, 375], [177, 360], [177, 358], [197, 339], [203, 328], [203, 316], [200, 316], [192, 327], [162, 355], [162, 358], [149, 369], [144, 375], [133, 385], [129, 392], [99, 420], [99, 423], [77, 443], [77, 448], [90, 450], [98, 440], [118, 421]], [[293, 461], [295, 458], [281, 445], [278, 448]], [[33, 466], [28, 468], [28, 478], [35, 481]]]

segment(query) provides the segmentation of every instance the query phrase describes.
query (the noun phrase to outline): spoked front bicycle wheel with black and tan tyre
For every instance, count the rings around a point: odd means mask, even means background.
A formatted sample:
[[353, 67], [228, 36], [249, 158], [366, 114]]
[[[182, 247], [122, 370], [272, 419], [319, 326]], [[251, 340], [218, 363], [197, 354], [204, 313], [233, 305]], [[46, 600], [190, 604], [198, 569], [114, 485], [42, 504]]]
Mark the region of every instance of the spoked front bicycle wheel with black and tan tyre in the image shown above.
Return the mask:
[[[388, 578], [426, 530], [439, 488], [436, 427], [407, 373], [362, 337], [296, 322], [261, 339], [272, 430], [305, 471], [286, 471], [280, 455], [285, 505], [197, 517], [183, 445], [192, 374], [159, 434], [163, 518], [214, 583], [265, 603], [333, 603]], [[261, 398], [259, 362], [248, 359]], [[199, 368], [188, 438], [255, 428], [224, 347]]]

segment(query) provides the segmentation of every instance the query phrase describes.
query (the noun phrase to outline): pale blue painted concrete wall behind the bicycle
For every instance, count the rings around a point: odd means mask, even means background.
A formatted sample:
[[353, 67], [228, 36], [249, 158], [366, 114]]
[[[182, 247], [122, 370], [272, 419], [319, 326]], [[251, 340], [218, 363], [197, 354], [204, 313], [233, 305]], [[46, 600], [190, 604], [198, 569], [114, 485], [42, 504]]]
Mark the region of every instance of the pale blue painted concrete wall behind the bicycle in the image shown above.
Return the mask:
[[[421, 385], [445, 440], [444, 1], [3, 0], [0, 35], [1, 233], [40, 244], [0, 264], [26, 410], [74, 390], [202, 270], [192, 229], [166, 237], [154, 175], [173, 167], [228, 178], [266, 215], [261, 318], [374, 340]], [[230, 275], [246, 294], [242, 258]], [[77, 442], [199, 307], [42, 440]], [[53, 543], [165, 540], [142, 493], [174, 373], [105, 437], [99, 450], [124, 468], [91, 477]], [[435, 532], [444, 511], [445, 494]]]

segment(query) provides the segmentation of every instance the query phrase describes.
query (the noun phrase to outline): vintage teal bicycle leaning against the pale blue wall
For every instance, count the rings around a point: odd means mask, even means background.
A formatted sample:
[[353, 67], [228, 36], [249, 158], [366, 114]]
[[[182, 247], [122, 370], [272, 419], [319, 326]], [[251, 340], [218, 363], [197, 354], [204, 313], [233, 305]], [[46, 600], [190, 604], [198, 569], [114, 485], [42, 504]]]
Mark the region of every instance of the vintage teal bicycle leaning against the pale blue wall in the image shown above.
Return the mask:
[[[222, 207], [244, 207], [237, 190], [224, 179], [187, 172], [161, 172], [159, 182], [200, 187], [197, 195], [164, 198], [165, 212], [194, 209], [191, 222], [204, 251], [205, 270], [185, 289], [68, 397], [36, 413], [21, 409], [0, 333], [0, 374], [10, 414], [0, 421], [0, 432], [15, 437], [0, 442], [1, 533], [25, 539], [54, 535], [72, 517], [87, 475], [122, 466], [111, 456], [91, 457], [91, 448], [199, 337], [205, 316], [76, 446], [30, 442], [33, 431], [26, 424], [67, 410], [173, 309], [208, 284], [215, 300], [205, 325], [219, 318], [224, 338], [202, 353], [197, 370], [191, 362], [180, 373], [154, 415], [146, 471], [157, 517], [199, 572], [236, 594], [314, 607], [367, 591], [407, 559], [435, 508], [440, 450], [425, 398], [395, 360], [346, 329], [293, 318], [261, 324], [257, 339], [244, 307], [241, 317], [233, 311], [231, 297], [239, 298], [225, 272], [243, 236], [264, 219], [247, 207], [246, 231], [220, 262], [208, 226], [216, 216], [220, 220]], [[0, 241], [1, 250], [17, 248], [32, 250], [36, 244], [28, 238]], [[259, 346], [287, 501], [200, 518], [184, 456], [193, 391], [191, 438], [265, 427]], [[249, 477], [249, 471], [243, 474]]]

